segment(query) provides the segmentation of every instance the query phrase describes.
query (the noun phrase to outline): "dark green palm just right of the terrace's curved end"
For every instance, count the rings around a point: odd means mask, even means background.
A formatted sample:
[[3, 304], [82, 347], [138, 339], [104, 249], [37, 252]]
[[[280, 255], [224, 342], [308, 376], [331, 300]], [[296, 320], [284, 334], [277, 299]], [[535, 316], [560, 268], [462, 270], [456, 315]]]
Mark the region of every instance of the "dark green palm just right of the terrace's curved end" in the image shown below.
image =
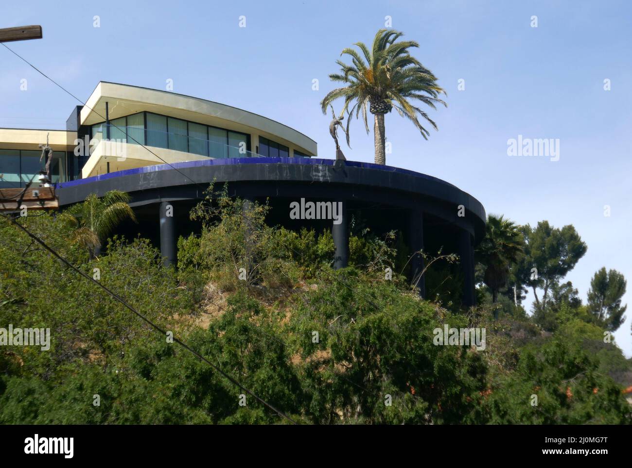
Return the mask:
[[485, 237], [476, 253], [485, 267], [483, 281], [492, 291], [492, 302], [497, 301], [498, 291], [507, 284], [509, 267], [520, 259], [523, 249], [522, 234], [513, 221], [493, 214], [487, 217]]

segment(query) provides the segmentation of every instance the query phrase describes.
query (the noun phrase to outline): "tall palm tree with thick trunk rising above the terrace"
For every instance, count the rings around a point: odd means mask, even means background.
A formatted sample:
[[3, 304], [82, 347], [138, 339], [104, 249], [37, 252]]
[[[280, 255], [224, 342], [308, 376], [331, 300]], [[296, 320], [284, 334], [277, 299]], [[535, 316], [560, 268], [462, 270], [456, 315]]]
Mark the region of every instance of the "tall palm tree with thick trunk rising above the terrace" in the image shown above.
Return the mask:
[[402, 35], [403, 33], [398, 31], [380, 29], [373, 40], [372, 49], [368, 49], [362, 42], [356, 42], [355, 45], [362, 52], [362, 56], [355, 49], [344, 49], [340, 55], [350, 56], [353, 64], [348, 65], [337, 60], [341, 73], [331, 74], [329, 78], [332, 81], [346, 83], [346, 86], [329, 91], [320, 103], [323, 114], [326, 114], [328, 105], [337, 98], [344, 98], [344, 107], [340, 115], [348, 112], [347, 133], [351, 116], [355, 111], [356, 119], [360, 118], [362, 112], [367, 134], [368, 104], [368, 111], [374, 115], [375, 121], [376, 164], [386, 164], [384, 114], [391, 112], [394, 107], [399, 115], [411, 120], [422, 136], [428, 139], [430, 132], [420, 124], [418, 115], [427, 120], [435, 130], [437, 125], [410, 100], [420, 100], [432, 108], [436, 108], [435, 103], [447, 107], [447, 104], [439, 99], [439, 95], [446, 94], [446, 91], [437, 85], [437, 78], [408, 52], [408, 49], [419, 47], [419, 44], [411, 40], [396, 42]]

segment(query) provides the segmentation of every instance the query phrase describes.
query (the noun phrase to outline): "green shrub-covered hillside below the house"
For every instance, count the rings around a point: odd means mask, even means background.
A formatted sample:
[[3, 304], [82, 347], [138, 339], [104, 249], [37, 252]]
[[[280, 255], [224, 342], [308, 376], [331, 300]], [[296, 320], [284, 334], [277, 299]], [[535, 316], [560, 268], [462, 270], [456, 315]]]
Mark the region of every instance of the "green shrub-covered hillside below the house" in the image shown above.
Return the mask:
[[[399, 233], [353, 230], [351, 266], [334, 271], [329, 233], [266, 226], [268, 209], [209, 192], [177, 270], [143, 238], [112, 237], [92, 258], [52, 214], [18, 222], [300, 423], [632, 421], [629, 360], [585, 306], [558, 294], [555, 309], [528, 315], [502, 287], [492, 303], [480, 286], [480, 307], [461, 310], [449, 278], [420, 300]], [[0, 423], [288, 422], [4, 218], [0, 239], [0, 327], [51, 329], [49, 351], [0, 347]], [[435, 346], [444, 324], [485, 327], [485, 350]]]

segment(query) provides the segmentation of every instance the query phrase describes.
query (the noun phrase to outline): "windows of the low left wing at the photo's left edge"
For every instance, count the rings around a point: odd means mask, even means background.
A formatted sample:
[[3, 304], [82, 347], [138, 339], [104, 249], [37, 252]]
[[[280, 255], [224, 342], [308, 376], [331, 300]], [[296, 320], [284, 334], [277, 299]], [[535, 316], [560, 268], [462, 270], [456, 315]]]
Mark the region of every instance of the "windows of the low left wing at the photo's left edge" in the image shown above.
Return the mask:
[[[33, 177], [32, 187], [39, 186], [37, 175], [44, 170], [46, 162], [39, 158], [42, 155], [40, 149], [0, 149], [0, 188], [17, 189], [25, 187]], [[66, 153], [53, 151], [51, 161], [52, 182], [65, 182], [66, 178]]]

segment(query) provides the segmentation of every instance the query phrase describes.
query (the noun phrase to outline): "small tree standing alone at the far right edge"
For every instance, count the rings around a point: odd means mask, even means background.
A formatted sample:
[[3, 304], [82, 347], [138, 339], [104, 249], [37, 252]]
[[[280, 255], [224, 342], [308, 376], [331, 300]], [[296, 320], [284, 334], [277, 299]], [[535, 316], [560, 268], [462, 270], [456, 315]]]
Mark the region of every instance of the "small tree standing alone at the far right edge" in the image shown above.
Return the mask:
[[626, 279], [616, 270], [605, 271], [602, 267], [590, 281], [588, 290], [588, 310], [597, 323], [614, 332], [625, 321], [623, 313], [628, 308], [621, 306], [621, 297], [626, 292]]

